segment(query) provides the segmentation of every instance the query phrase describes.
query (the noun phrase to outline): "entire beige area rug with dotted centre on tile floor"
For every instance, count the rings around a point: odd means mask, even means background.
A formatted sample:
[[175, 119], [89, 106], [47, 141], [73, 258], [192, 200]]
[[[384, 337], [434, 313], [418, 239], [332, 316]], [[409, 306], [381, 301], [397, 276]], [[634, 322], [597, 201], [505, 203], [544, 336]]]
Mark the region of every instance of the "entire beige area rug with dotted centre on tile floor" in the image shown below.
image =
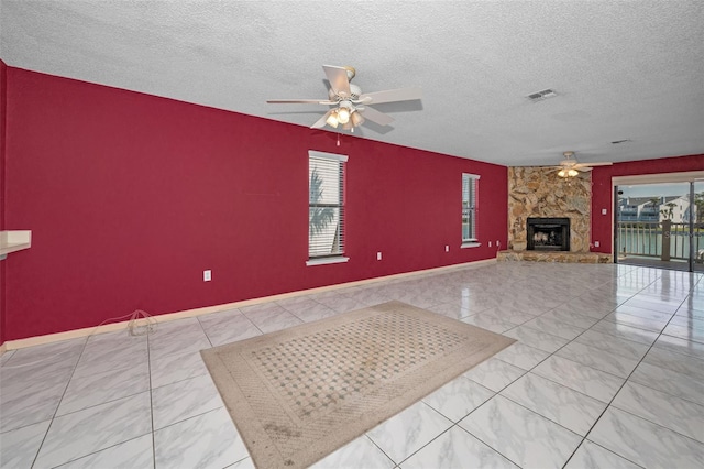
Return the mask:
[[513, 342], [389, 302], [201, 353], [254, 463], [304, 468]]

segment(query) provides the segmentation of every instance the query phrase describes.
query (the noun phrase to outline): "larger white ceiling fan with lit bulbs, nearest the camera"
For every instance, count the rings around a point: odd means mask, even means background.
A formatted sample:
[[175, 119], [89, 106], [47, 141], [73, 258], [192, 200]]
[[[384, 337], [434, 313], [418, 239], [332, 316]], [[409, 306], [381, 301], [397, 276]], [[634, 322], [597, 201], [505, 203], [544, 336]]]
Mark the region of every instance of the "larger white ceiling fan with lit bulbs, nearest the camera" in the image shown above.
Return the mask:
[[380, 126], [388, 126], [394, 118], [387, 116], [370, 105], [380, 105], [383, 102], [408, 101], [421, 98], [421, 91], [418, 87], [389, 89], [386, 91], [362, 92], [362, 89], [352, 85], [350, 81], [354, 78], [356, 70], [353, 67], [338, 67], [333, 65], [323, 65], [330, 89], [328, 90], [328, 99], [268, 99], [268, 103], [304, 103], [304, 105], [326, 105], [332, 108], [318, 119], [311, 126], [312, 129], [320, 129], [326, 124], [337, 128], [354, 131], [354, 128], [364, 123], [365, 119]]

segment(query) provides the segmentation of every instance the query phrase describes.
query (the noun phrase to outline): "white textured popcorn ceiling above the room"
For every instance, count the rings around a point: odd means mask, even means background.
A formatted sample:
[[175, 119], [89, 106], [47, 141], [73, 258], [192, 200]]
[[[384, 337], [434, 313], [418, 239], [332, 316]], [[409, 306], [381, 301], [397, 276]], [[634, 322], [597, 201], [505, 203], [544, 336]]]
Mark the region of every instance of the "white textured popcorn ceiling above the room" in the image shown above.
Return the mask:
[[[321, 65], [396, 121], [355, 135], [504, 165], [704, 153], [696, 1], [0, 0], [8, 65], [311, 126]], [[551, 88], [556, 98], [527, 95]], [[334, 131], [334, 130], [330, 130]], [[630, 140], [612, 144], [617, 140]]]

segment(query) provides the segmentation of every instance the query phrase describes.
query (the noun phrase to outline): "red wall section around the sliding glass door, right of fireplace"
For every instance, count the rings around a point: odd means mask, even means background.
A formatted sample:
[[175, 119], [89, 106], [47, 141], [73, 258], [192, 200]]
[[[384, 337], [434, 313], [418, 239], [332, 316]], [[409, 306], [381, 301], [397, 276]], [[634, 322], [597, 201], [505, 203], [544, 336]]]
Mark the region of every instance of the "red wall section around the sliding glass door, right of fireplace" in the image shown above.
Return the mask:
[[[685, 171], [704, 171], [704, 154], [632, 161], [615, 163], [612, 166], [595, 167], [592, 171], [592, 241], [598, 240], [601, 247], [592, 248], [592, 250], [610, 253], [613, 249], [614, 203], [612, 177]], [[607, 215], [602, 215], [603, 208], [607, 209]]]

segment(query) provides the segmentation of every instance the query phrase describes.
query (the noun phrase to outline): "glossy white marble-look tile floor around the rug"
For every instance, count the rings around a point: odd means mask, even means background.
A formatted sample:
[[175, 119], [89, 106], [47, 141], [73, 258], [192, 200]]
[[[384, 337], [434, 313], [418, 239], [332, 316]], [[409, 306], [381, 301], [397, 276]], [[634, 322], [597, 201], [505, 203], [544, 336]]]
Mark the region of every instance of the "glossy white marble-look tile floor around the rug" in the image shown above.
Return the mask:
[[704, 467], [704, 275], [496, 263], [6, 352], [3, 468], [252, 461], [199, 350], [389, 299], [516, 338], [317, 468]]

